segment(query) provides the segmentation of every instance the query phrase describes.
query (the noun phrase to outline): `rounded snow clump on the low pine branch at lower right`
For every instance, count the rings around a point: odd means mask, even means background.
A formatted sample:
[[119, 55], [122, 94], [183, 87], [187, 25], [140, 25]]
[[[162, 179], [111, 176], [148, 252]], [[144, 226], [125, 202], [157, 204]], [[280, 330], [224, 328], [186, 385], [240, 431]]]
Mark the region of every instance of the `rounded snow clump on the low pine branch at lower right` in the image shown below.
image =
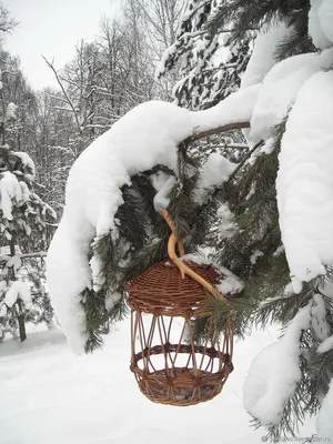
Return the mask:
[[301, 309], [284, 336], [253, 360], [243, 387], [244, 408], [263, 425], [279, 424], [301, 379], [300, 335], [310, 326], [311, 303]]

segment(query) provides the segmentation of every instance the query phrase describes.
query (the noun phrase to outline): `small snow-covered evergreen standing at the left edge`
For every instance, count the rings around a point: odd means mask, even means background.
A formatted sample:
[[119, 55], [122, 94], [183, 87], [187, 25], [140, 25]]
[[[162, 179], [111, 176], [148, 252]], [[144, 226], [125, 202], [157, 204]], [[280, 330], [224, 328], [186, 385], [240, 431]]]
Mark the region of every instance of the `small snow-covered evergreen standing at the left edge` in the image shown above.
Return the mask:
[[[0, 211], [1, 211], [1, 281], [0, 330], [26, 340], [26, 322], [51, 325], [53, 311], [44, 286], [44, 256], [49, 241], [49, 224], [56, 219], [51, 206], [33, 190], [34, 164], [22, 151], [11, 151], [7, 141], [21, 147], [24, 112], [8, 103], [7, 89], [23, 81], [3, 80], [1, 89]], [[30, 98], [31, 98], [30, 92]], [[28, 102], [29, 105], [29, 102]], [[18, 113], [17, 113], [18, 109]]]

